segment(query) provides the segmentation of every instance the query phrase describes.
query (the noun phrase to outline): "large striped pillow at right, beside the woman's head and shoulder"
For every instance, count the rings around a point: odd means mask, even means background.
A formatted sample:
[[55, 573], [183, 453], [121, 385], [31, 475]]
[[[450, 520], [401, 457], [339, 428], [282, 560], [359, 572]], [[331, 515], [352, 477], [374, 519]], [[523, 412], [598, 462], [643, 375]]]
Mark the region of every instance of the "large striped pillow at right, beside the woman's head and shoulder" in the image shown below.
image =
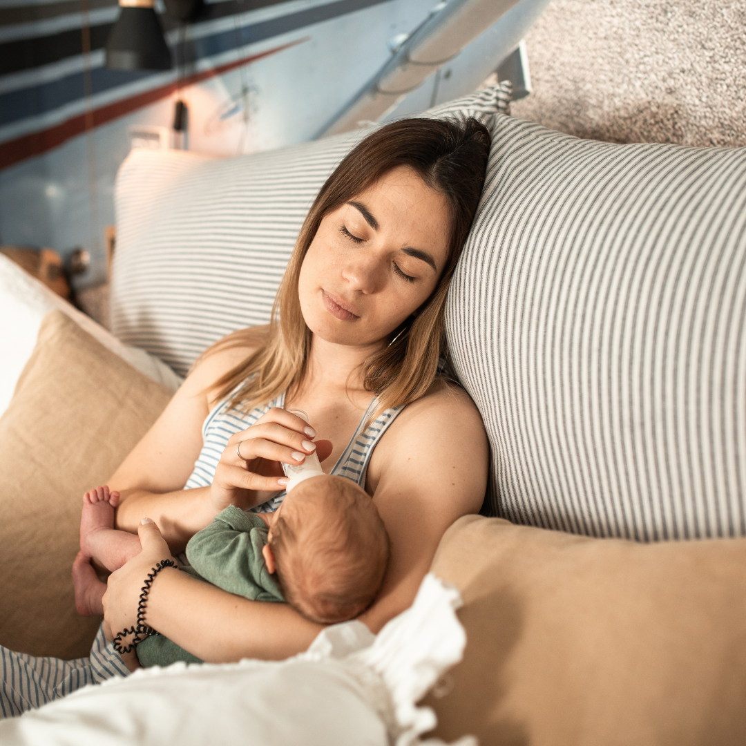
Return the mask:
[[484, 511], [642, 541], [746, 535], [746, 148], [496, 116], [447, 307]]

